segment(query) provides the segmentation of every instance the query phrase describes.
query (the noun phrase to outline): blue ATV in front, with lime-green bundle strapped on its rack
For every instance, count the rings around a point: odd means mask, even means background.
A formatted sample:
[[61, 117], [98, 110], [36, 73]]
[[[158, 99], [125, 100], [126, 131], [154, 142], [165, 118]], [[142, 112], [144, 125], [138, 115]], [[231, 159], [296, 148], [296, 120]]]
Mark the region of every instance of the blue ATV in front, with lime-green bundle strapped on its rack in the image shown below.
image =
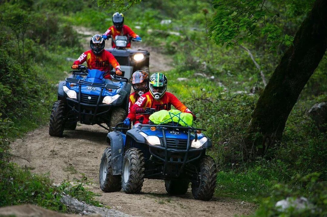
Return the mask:
[[[152, 111], [151, 111], [152, 110]], [[146, 109], [147, 114], [153, 109]], [[191, 182], [198, 200], [210, 200], [215, 192], [216, 164], [206, 155], [211, 140], [201, 131], [177, 123], [140, 124], [118, 127], [107, 135], [109, 146], [103, 153], [99, 181], [104, 192], [141, 192], [144, 178], [163, 179], [168, 194], [181, 195]]]

